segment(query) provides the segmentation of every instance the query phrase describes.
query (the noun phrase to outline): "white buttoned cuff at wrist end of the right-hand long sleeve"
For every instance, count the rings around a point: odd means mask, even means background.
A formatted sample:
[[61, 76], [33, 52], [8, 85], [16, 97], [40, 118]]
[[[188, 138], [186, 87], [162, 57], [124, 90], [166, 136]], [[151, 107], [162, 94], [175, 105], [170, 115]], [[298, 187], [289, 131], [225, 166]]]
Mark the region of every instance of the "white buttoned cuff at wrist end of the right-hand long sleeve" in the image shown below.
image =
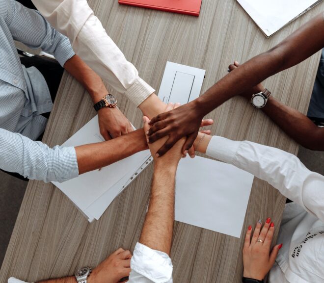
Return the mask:
[[233, 159], [240, 144], [240, 141], [232, 141], [224, 137], [213, 136], [208, 144], [206, 154], [220, 161], [233, 164]]

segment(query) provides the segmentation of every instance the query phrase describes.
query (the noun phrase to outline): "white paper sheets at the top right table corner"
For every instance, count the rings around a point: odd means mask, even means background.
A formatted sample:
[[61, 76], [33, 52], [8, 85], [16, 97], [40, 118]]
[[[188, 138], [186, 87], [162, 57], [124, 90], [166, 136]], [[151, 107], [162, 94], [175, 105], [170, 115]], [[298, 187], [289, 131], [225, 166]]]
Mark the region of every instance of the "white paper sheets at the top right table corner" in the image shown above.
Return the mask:
[[238, 0], [269, 37], [323, 0]]

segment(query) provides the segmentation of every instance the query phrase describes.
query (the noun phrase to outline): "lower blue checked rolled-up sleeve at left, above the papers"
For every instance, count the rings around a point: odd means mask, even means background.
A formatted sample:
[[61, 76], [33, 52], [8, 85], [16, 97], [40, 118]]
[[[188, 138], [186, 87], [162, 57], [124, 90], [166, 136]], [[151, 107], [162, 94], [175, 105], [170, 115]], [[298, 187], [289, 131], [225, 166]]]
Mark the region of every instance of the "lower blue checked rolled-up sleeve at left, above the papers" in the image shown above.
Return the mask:
[[74, 147], [49, 148], [5, 129], [0, 129], [0, 169], [44, 182], [63, 182], [79, 176]]

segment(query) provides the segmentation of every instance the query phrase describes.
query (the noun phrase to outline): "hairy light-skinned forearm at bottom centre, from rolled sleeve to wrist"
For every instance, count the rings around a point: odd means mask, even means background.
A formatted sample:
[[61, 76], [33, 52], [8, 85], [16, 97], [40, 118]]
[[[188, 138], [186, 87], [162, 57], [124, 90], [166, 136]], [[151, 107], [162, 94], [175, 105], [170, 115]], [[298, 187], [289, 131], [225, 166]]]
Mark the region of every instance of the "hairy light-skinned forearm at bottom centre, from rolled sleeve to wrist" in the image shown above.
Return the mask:
[[[172, 167], [172, 166], [171, 166]], [[155, 163], [151, 199], [139, 242], [170, 255], [176, 168]]]

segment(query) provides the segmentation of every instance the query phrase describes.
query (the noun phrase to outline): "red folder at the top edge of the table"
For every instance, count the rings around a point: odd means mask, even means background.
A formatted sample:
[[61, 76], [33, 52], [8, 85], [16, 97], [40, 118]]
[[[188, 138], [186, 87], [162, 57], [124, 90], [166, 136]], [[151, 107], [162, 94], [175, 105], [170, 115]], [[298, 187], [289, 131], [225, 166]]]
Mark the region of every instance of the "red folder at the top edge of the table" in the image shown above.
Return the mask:
[[199, 16], [202, 0], [118, 0], [119, 4]]

